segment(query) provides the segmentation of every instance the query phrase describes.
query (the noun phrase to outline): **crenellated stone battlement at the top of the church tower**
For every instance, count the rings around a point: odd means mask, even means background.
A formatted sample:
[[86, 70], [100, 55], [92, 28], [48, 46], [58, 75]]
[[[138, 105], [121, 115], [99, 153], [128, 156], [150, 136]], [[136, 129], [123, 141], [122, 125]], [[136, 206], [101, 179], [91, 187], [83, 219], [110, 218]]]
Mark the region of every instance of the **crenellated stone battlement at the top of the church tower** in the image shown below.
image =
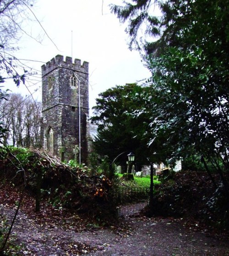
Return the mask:
[[65, 57], [65, 61], [64, 61], [64, 56], [56, 55], [56, 57], [52, 58], [49, 62], [42, 65], [41, 70], [42, 70], [42, 76], [48, 74], [49, 72], [53, 71], [58, 67], [73, 69], [75, 71], [88, 74], [88, 66], [89, 66], [89, 63], [86, 61], [84, 61], [81, 64], [80, 59], [75, 59], [73, 63], [71, 57]]

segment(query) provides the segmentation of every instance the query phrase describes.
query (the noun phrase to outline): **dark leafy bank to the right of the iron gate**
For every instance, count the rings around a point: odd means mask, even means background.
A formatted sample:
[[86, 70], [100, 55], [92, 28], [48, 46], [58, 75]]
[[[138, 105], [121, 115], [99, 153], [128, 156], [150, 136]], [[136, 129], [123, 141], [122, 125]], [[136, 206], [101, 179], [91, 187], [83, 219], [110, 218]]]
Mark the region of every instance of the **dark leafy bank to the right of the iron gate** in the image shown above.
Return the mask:
[[[218, 175], [214, 175], [219, 180]], [[202, 220], [212, 226], [229, 229], [227, 198], [215, 191], [206, 172], [181, 171], [163, 178], [154, 193], [153, 214]]]

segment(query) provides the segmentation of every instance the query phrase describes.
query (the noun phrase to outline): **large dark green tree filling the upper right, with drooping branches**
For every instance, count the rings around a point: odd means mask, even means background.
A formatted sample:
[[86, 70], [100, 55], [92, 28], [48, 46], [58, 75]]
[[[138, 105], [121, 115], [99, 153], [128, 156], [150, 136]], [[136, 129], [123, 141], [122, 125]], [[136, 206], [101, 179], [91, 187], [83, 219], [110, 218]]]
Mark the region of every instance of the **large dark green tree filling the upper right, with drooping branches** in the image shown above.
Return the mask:
[[[158, 116], [151, 123], [151, 145], [154, 134], [163, 132], [166, 144], [174, 145], [172, 156], [194, 149], [202, 161], [212, 163], [228, 193], [229, 0], [132, 3], [112, 10], [121, 21], [129, 21], [131, 42], [146, 50], [149, 83], [156, 95], [152, 116]], [[161, 17], [149, 14], [153, 3]], [[145, 21], [147, 34], [157, 38], [141, 45], [137, 33]]]

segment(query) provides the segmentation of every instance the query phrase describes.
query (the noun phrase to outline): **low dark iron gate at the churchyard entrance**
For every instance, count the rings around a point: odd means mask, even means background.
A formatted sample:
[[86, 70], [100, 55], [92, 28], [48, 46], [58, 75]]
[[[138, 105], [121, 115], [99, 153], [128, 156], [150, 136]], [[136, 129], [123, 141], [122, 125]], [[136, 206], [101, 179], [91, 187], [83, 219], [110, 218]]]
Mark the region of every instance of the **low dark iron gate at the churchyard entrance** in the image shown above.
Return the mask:
[[150, 188], [119, 187], [116, 190], [117, 210], [119, 217], [137, 215], [149, 203]]

